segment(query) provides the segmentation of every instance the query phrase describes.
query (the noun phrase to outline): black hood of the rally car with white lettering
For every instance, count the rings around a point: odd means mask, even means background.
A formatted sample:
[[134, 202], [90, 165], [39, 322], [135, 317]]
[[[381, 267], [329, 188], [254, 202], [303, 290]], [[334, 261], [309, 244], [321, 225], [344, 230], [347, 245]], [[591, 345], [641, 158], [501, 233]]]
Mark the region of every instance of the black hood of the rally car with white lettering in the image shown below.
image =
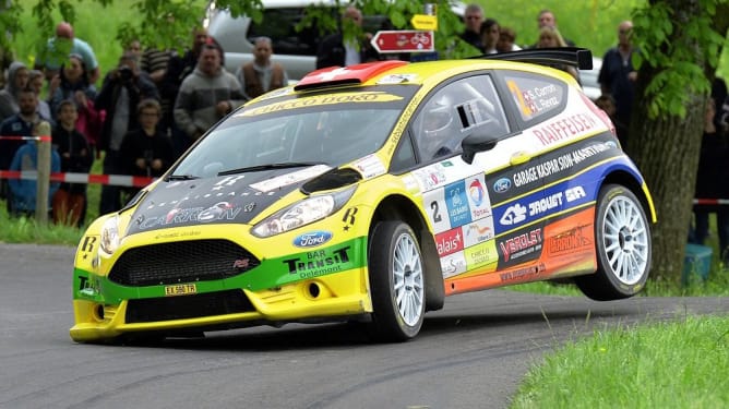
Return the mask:
[[320, 165], [187, 181], [159, 181], [134, 208], [128, 233], [201, 224], [249, 224], [251, 219], [325, 172]]

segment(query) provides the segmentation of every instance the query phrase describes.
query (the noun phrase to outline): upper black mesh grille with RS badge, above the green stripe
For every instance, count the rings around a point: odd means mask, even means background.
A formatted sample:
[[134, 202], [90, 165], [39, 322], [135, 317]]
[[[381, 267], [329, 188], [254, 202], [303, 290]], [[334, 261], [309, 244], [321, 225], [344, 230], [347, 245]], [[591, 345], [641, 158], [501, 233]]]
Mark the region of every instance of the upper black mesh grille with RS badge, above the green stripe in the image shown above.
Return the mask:
[[109, 280], [133, 287], [206, 281], [237, 276], [260, 264], [228, 240], [176, 241], [126, 251]]

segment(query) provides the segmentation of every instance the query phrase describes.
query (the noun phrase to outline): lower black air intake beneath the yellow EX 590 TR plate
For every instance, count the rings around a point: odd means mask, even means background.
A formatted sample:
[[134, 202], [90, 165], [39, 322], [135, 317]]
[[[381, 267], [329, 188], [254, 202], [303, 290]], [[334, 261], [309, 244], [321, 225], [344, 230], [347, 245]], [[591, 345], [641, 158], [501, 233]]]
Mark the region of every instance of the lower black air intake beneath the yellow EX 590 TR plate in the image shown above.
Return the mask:
[[128, 324], [152, 323], [251, 311], [255, 309], [242, 290], [227, 290], [194, 296], [129, 300], [126, 321]]

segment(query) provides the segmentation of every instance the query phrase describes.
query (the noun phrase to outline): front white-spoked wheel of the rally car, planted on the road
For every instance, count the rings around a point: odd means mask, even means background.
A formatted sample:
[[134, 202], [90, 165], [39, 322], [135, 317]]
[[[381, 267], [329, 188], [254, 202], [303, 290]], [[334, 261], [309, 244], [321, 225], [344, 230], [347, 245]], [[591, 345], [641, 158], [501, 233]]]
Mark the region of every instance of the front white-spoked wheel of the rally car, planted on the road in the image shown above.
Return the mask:
[[372, 305], [370, 333], [383, 341], [408, 340], [426, 314], [425, 274], [413, 229], [401, 221], [375, 226], [369, 250]]

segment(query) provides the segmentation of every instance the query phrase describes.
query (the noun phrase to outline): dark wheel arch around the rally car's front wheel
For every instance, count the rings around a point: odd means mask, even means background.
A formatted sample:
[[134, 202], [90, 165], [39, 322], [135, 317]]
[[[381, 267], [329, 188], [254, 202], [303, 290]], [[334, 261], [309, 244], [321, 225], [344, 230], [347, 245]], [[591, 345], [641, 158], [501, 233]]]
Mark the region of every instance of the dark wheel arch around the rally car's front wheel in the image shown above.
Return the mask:
[[438, 256], [433, 234], [428, 228], [428, 222], [419, 207], [413, 201], [399, 194], [384, 197], [373, 213], [368, 237], [372, 236], [372, 230], [378, 222], [385, 220], [402, 220], [410, 226], [417, 234], [426, 273], [426, 311], [442, 309], [445, 300], [445, 287], [441, 261]]

